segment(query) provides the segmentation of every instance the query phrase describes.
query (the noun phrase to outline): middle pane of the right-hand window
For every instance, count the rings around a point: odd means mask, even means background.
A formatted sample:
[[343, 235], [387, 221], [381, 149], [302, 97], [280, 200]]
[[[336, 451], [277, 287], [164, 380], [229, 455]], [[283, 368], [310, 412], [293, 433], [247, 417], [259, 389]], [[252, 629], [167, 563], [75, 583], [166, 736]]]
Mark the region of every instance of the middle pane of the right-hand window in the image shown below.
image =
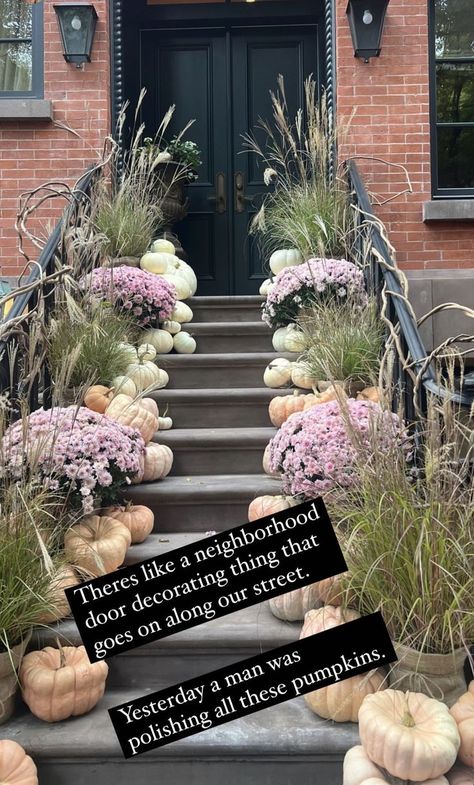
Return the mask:
[[474, 63], [438, 63], [436, 86], [439, 123], [474, 122]]

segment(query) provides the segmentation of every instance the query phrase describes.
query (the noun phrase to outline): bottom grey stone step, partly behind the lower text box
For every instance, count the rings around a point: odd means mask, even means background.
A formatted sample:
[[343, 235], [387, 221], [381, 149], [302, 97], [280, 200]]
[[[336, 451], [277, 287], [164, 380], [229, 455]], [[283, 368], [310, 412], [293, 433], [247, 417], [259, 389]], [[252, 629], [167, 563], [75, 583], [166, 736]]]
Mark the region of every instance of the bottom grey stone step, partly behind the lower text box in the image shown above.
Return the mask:
[[357, 725], [310, 712], [303, 698], [124, 760], [107, 710], [150, 692], [107, 691], [82, 717], [42, 722], [26, 708], [0, 726], [0, 738], [26, 748], [47, 785], [340, 785]]

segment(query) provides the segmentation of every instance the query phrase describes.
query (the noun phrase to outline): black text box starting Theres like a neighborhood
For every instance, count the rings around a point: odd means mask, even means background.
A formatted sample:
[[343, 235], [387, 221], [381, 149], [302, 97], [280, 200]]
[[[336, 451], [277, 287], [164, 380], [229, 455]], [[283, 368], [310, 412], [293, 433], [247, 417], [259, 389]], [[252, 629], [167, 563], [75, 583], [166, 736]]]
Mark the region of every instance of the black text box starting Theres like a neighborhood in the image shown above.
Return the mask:
[[66, 590], [91, 662], [347, 570], [322, 499]]

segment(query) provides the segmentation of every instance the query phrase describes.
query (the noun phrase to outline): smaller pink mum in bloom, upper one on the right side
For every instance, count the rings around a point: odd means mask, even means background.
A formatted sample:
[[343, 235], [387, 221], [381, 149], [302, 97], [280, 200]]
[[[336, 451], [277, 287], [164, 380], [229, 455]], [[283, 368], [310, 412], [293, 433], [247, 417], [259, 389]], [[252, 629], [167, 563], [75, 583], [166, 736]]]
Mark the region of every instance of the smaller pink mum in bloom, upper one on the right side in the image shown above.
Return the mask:
[[296, 321], [302, 308], [329, 301], [366, 306], [362, 271], [345, 259], [310, 259], [278, 273], [262, 318], [270, 327], [284, 327]]

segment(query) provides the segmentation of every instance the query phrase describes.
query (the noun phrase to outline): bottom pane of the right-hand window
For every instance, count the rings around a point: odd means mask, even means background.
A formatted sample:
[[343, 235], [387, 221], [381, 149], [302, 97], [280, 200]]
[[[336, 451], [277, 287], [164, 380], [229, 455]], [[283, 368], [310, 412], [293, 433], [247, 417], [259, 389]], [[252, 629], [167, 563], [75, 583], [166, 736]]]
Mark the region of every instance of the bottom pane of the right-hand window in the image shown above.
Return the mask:
[[474, 188], [474, 128], [438, 128], [440, 188]]

